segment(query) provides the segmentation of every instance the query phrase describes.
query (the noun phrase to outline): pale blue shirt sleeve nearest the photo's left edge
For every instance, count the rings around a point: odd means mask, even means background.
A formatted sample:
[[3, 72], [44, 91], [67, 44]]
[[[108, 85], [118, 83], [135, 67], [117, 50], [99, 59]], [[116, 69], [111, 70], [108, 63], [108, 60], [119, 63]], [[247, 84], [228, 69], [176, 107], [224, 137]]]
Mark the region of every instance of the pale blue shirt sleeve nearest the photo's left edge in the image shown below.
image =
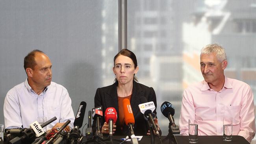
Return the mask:
[[11, 92], [4, 99], [4, 122], [6, 129], [22, 127], [19, 102]]

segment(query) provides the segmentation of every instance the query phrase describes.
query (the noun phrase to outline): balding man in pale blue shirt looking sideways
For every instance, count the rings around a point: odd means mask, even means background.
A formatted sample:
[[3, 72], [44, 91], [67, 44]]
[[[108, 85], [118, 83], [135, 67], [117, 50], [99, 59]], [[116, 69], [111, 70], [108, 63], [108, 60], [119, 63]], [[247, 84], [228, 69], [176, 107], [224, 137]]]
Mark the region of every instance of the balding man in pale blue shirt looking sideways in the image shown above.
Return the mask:
[[52, 82], [52, 63], [40, 50], [33, 50], [24, 58], [27, 79], [6, 94], [4, 121], [6, 128], [28, 128], [37, 117], [47, 120], [57, 117], [46, 129], [61, 127], [71, 120], [66, 131], [73, 127], [74, 113], [67, 89]]

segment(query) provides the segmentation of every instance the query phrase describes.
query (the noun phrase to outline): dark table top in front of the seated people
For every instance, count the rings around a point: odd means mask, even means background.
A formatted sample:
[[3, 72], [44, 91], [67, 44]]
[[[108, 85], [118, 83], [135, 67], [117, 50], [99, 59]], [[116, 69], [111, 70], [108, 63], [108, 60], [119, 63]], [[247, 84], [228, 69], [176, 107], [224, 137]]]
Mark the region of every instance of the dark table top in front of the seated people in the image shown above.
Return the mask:
[[[120, 144], [121, 140], [120, 138], [124, 138], [125, 136], [114, 136], [114, 144]], [[189, 144], [188, 136], [174, 136], [176, 139], [177, 144]], [[169, 141], [170, 137], [168, 136], [162, 136], [161, 141], [158, 139], [158, 137], [155, 137], [155, 144], [174, 144]], [[110, 144], [109, 140], [104, 141], [106, 144]], [[97, 144], [97, 142], [83, 142], [84, 144]], [[124, 142], [123, 144], [131, 144], [131, 142]], [[150, 136], [143, 136], [141, 141], [139, 141], [139, 144], [150, 144]], [[233, 135], [232, 136], [232, 142], [224, 142], [223, 136], [198, 136], [198, 143], [197, 144], [250, 144], [245, 140], [245, 138]]]

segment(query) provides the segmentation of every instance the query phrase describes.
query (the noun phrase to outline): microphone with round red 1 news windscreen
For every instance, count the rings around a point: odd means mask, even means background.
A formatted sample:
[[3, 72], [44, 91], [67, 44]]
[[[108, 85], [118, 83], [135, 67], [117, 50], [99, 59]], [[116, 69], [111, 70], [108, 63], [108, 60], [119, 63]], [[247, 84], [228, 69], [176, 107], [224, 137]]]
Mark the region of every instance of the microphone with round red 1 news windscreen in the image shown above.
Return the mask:
[[109, 136], [113, 136], [113, 124], [117, 122], [117, 111], [114, 107], [108, 107], [105, 111], [105, 120], [108, 124]]

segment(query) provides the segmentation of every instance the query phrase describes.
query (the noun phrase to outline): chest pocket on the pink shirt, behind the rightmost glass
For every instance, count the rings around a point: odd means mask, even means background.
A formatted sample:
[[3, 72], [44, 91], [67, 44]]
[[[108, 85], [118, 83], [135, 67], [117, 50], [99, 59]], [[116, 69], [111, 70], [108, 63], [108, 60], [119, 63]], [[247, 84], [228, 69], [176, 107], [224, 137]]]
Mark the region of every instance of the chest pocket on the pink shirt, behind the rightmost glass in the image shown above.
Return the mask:
[[240, 105], [225, 106], [224, 116], [230, 116], [233, 119], [233, 126], [240, 124]]

